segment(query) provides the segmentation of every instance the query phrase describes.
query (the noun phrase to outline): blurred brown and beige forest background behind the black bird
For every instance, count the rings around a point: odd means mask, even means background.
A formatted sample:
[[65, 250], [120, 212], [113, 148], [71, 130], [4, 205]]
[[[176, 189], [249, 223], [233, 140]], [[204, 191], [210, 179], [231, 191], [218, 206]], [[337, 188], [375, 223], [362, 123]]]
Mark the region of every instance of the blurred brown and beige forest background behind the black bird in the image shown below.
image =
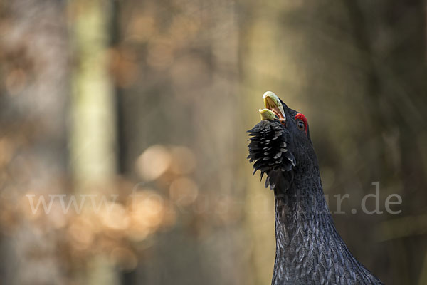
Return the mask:
[[[266, 90], [307, 115], [331, 210], [350, 194], [353, 254], [427, 284], [425, 1], [0, 0], [0, 33], [1, 284], [270, 284]], [[401, 214], [350, 214], [376, 181]]]

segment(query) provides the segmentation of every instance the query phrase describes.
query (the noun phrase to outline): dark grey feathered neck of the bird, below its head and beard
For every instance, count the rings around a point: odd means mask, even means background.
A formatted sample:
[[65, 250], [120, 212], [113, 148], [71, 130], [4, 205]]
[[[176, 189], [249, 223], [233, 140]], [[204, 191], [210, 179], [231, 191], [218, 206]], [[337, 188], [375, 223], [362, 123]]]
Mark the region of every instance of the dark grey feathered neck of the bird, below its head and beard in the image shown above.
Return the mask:
[[295, 171], [292, 185], [287, 190], [279, 185], [274, 192], [273, 284], [341, 284], [344, 280], [381, 284], [353, 257], [335, 229], [318, 167]]

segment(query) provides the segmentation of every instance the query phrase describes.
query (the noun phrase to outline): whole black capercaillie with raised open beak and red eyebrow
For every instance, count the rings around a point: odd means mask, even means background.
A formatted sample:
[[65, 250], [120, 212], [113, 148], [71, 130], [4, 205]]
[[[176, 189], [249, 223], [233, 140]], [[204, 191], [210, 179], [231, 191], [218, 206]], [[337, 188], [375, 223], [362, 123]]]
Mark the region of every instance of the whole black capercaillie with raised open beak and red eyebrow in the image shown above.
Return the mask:
[[272, 92], [263, 100], [263, 120], [248, 130], [248, 159], [275, 196], [272, 284], [382, 284], [335, 229], [307, 118]]

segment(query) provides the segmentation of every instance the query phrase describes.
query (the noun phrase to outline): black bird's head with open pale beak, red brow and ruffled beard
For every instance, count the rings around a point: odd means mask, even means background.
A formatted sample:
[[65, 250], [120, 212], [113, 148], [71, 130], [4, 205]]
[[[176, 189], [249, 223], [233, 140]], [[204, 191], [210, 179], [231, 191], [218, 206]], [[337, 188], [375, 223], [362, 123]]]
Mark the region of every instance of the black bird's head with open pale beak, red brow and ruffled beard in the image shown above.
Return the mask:
[[280, 185], [286, 190], [295, 172], [317, 165], [308, 121], [273, 92], [265, 92], [263, 100], [265, 108], [259, 110], [261, 121], [248, 130], [248, 159], [254, 162], [254, 174], [259, 170], [261, 179], [267, 175], [265, 187], [274, 189]]

